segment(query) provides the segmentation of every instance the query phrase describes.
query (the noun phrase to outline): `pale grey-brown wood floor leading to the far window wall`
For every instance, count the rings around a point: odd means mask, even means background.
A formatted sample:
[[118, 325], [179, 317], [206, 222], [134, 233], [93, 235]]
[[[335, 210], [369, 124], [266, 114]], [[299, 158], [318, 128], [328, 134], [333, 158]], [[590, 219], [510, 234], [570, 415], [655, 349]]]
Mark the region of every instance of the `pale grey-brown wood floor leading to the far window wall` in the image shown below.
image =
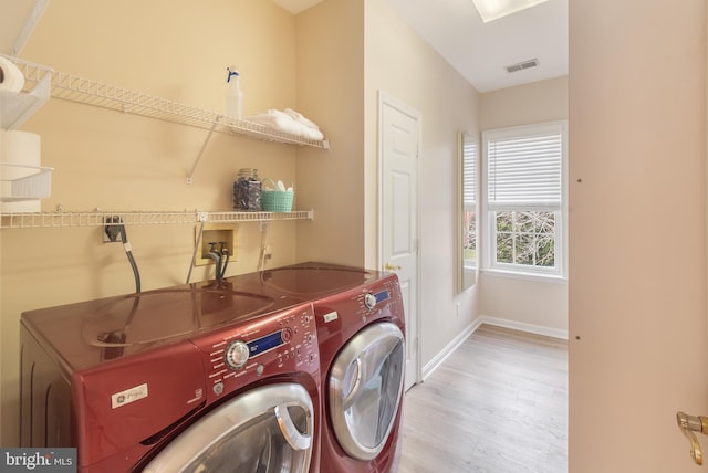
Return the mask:
[[568, 343], [482, 325], [403, 417], [397, 473], [565, 473]]

